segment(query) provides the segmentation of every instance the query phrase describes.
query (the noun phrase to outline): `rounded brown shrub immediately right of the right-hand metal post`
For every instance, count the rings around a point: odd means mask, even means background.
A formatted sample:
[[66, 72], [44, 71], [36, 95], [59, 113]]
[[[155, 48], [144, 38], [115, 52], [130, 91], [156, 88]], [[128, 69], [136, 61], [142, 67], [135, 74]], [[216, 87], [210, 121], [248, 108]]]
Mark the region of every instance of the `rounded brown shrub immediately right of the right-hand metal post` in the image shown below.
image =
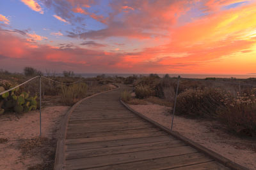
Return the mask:
[[188, 89], [177, 96], [177, 114], [188, 117], [216, 117], [216, 110], [227, 97], [220, 89]]

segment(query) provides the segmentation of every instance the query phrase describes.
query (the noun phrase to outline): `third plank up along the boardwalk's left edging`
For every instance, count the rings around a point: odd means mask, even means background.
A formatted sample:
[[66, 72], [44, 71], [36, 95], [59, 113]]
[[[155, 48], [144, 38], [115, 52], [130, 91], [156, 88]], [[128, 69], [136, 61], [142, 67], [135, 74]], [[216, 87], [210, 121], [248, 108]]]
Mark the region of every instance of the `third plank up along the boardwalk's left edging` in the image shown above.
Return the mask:
[[146, 138], [130, 138], [130, 139], [116, 139], [111, 141], [99, 141], [93, 143], [75, 143], [75, 144], [67, 144], [67, 151], [70, 150], [85, 150], [90, 148], [106, 148], [113, 146], [125, 146], [125, 145], [134, 145], [140, 143], [151, 143], [151, 142], [159, 142], [159, 141], [173, 141], [175, 140], [172, 136], [152, 136]]

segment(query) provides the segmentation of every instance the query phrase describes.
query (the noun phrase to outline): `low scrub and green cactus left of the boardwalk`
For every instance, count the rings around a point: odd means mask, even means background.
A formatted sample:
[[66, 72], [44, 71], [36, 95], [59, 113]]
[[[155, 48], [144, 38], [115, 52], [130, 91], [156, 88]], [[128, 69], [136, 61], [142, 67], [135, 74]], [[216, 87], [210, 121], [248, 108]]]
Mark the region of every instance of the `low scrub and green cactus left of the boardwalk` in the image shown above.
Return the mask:
[[[51, 80], [42, 78], [42, 106], [72, 104], [83, 97], [90, 96], [97, 92], [111, 89], [109, 83], [124, 81], [124, 78], [109, 78], [98, 76], [97, 78], [76, 77], [72, 71], [63, 71], [64, 76], [47, 73], [52, 80], [62, 83], [73, 83], [74, 81], [90, 81], [90, 83], [80, 82], [74, 85], [61, 85]], [[33, 67], [25, 67], [24, 73], [9, 73], [0, 69], [0, 92], [11, 89], [23, 83], [33, 76], [43, 75], [41, 71]], [[51, 75], [51, 76], [50, 76]], [[39, 105], [39, 79], [35, 79], [22, 85], [18, 89], [6, 92], [0, 96], [0, 115], [4, 113], [26, 113], [38, 109]]]

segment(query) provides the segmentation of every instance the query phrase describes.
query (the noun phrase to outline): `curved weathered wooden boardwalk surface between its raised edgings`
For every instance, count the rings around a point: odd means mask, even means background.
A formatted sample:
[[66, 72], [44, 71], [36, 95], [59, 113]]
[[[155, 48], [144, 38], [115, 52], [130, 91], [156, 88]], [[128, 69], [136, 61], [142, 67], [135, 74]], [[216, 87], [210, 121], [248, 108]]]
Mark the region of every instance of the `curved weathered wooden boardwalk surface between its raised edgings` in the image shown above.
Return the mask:
[[127, 110], [123, 89], [86, 99], [71, 113], [65, 169], [226, 169]]

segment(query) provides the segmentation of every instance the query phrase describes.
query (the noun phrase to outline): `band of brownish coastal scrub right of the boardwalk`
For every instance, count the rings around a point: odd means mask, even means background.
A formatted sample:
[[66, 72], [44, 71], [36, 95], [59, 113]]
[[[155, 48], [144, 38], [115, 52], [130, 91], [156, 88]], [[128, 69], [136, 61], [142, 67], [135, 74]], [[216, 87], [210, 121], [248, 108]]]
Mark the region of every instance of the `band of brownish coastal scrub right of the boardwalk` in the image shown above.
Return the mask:
[[[173, 106], [177, 78], [171, 78], [168, 74], [163, 78], [150, 74], [129, 77], [125, 81], [133, 81], [135, 93], [135, 97], [126, 100], [127, 103]], [[176, 114], [189, 118], [218, 120], [231, 132], [256, 136], [256, 89], [243, 83], [256, 84], [256, 79], [181, 78]]]

